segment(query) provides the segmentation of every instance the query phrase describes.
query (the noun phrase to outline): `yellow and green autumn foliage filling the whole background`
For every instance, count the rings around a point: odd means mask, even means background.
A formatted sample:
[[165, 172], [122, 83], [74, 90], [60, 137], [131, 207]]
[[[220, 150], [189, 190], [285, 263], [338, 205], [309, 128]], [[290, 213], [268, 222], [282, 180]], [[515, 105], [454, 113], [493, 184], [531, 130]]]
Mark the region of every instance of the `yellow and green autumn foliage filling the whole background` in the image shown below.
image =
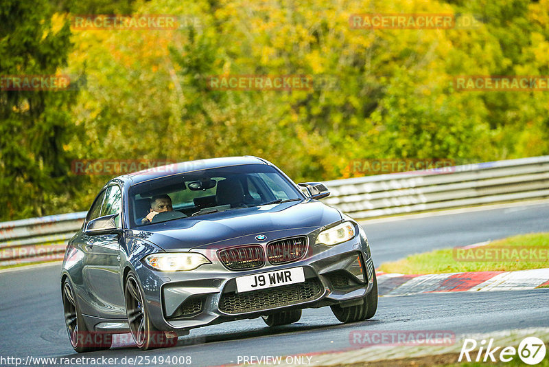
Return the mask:
[[[26, 2], [31, 1], [14, 1]], [[0, 199], [2, 220], [87, 210], [110, 177], [77, 177], [71, 159], [257, 155], [302, 181], [351, 177], [349, 164], [358, 159], [460, 164], [549, 154], [549, 91], [454, 85], [456, 76], [548, 76], [549, 0], [95, 0], [88, 9], [75, 4], [51, 5], [40, 15], [67, 51], [63, 60], [52, 59], [51, 68], [85, 82], [72, 100], [47, 102], [45, 111], [60, 103], [61, 122], [54, 115], [25, 120], [28, 133], [51, 140], [40, 153], [50, 168], [34, 167], [36, 148], [25, 142], [18, 145], [28, 158], [15, 169], [14, 147], [8, 135], [0, 138], [0, 169], [10, 173], [0, 177], [8, 193]], [[73, 27], [70, 41], [62, 37], [75, 14], [128, 11], [175, 16], [178, 26]], [[353, 27], [353, 14], [449, 14], [454, 23], [374, 29]], [[6, 34], [10, 30], [0, 30], [0, 48]], [[15, 68], [23, 63], [10, 57]], [[0, 61], [0, 74], [6, 70], [12, 69]], [[303, 76], [312, 87], [209, 86], [212, 77], [222, 76]], [[6, 130], [5, 119], [12, 119], [14, 108], [24, 114], [27, 97], [6, 99], [6, 93], [0, 91], [3, 134], [25, 134], [23, 127]], [[53, 147], [61, 151], [52, 155]], [[40, 186], [40, 177], [49, 173], [69, 189]], [[25, 199], [13, 198], [27, 189]]]

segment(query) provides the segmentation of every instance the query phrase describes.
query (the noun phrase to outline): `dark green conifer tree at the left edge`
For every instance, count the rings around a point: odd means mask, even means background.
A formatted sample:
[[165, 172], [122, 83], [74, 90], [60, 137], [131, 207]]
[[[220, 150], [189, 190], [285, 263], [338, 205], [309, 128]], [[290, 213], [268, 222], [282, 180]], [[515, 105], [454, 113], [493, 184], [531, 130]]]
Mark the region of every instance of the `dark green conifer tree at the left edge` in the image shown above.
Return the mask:
[[[67, 65], [69, 23], [54, 27], [47, 0], [1, 0], [0, 76], [50, 76]], [[5, 80], [5, 79], [4, 79]], [[65, 151], [76, 91], [0, 90], [0, 220], [71, 208]]]

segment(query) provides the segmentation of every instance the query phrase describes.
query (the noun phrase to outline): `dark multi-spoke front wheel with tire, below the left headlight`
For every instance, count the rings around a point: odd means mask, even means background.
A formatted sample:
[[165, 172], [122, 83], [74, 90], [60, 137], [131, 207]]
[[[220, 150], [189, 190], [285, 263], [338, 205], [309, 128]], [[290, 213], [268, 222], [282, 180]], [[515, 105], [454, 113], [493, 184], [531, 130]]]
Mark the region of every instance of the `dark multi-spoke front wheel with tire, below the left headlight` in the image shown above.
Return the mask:
[[124, 300], [133, 340], [142, 351], [177, 344], [177, 337], [166, 337], [163, 331], [157, 330], [152, 324], [143, 289], [131, 271], [124, 282]]

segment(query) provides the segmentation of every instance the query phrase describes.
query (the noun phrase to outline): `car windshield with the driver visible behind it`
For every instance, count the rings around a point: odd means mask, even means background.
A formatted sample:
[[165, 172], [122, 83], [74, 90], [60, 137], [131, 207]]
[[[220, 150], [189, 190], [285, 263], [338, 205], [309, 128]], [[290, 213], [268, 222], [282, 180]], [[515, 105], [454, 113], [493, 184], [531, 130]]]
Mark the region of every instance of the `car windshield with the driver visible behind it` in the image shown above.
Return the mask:
[[132, 186], [130, 221], [135, 227], [300, 199], [301, 192], [272, 166], [211, 168]]

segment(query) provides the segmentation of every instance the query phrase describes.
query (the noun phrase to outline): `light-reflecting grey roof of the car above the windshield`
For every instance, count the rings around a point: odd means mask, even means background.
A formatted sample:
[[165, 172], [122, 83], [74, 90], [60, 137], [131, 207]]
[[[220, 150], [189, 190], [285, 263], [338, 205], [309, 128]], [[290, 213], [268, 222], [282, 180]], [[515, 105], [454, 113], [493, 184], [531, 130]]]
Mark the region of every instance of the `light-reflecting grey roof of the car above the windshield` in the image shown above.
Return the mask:
[[131, 184], [137, 184], [148, 181], [150, 179], [177, 175], [179, 173], [186, 173], [194, 170], [240, 166], [242, 164], [269, 164], [269, 162], [258, 157], [253, 157], [251, 155], [245, 155], [243, 157], [198, 159], [195, 161], [167, 164], [166, 166], [159, 166], [147, 170], [140, 170], [139, 172], [135, 173], [128, 173], [127, 175], [121, 175], [119, 177], [116, 177], [111, 181], [131, 181]]

